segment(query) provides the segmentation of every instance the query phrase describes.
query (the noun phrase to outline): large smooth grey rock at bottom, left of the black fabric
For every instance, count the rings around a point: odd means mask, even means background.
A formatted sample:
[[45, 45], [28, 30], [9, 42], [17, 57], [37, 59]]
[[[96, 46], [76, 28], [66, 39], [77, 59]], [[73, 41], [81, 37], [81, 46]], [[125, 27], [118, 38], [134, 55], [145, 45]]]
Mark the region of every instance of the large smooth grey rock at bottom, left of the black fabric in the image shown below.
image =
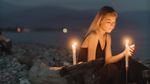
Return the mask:
[[32, 84], [67, 84], [61, 77], [61, 67], [49, 67], [42, 62], [35, 63], [29, 71], [29, 79]]

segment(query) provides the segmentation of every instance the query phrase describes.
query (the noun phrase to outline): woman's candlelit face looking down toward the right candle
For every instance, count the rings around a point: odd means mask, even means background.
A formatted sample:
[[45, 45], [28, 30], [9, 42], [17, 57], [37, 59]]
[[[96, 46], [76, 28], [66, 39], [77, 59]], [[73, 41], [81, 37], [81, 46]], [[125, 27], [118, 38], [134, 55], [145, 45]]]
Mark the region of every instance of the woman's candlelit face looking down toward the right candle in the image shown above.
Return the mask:
[[100, 28], [107, 33], [111, 33], [116, 24], [116, 16], [109, 13], [100, 21]]

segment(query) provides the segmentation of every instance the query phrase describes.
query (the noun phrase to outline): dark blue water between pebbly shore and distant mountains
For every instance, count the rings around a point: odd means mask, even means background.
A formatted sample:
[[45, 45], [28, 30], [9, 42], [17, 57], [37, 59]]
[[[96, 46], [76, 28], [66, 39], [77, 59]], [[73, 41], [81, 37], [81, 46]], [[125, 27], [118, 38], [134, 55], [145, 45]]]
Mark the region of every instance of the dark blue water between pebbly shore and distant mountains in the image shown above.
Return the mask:
[[[117, 33], [119, 30], [116, 30]], [[117, 33], [112, 34], [112, 53], [117, 54], [124, 49], [124, 45], [122, 43], [123, 35], [126, 33]], [[36, 43], [44, 44], [48, 46], [56, 46], [56, 47], [63, 47], [67, 49], [71, 49], [71, 40], [75, 39], [78, 40], [79, 43], [82, 42], [83, 37], [85, 35], [84, 31], [76, 31], [76, 32], [49, 32], [49, 31], [42, 31], [42, 32], [3, 32], [3, 34], [12, 39], [13, 42], [23, 42], [23, 43]], [[123, 35], [122, 35], [123, 34]], [[142, 34], [139, 35], [131, 34], [134, 39], [135, 44], [135, 56], [136, 59], [142, 60], [150, 60], [150, 36]], [[79, 46], [78, 46], [79, 47]]]

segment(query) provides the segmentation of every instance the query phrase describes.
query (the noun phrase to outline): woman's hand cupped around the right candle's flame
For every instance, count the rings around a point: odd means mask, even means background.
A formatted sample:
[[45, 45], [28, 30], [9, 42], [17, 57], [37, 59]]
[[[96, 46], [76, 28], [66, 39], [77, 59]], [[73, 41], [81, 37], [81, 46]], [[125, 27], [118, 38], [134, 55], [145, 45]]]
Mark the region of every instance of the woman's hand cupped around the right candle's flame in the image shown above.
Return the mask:
[[128, 47], [125, 48], [124, 50], [124, 56], [133, 56], [133, 53], [135, 51], [135, 45], [130, 45]]

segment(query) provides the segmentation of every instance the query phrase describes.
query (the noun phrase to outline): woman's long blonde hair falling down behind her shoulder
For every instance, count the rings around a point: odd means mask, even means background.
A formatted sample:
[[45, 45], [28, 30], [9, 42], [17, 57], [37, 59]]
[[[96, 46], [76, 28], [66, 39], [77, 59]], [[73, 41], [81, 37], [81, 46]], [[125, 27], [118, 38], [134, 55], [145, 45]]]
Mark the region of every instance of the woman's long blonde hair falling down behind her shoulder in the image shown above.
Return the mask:
[[118, 16], [117, 12], [110, 6], [103, 6], [100, 11], [97, 12], [95, 18], [93, 19], [93, 22], [91, 23], [85, 38], [91, 33], [91, 32], [96, 32], [96, 30], [99, 27], [99, 23], [101, 20], [105, 17], [106, 14], [112, 14], [114, 16]]

